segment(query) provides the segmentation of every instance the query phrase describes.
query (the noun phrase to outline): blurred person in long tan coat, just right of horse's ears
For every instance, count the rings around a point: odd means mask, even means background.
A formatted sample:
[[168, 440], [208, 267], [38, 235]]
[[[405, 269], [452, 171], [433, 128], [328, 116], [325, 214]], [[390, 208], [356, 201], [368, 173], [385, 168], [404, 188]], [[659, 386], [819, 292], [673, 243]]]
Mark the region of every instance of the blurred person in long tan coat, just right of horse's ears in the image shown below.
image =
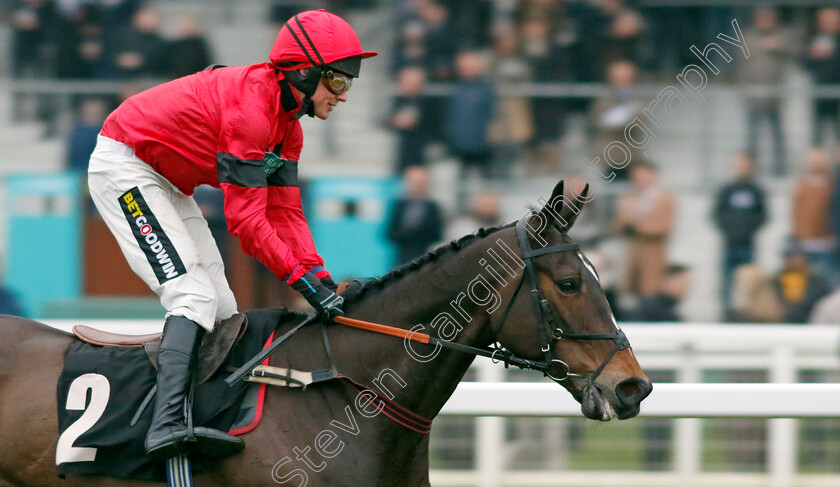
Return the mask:
[[653, 165], [639, 161], [630, 166], [632, 193], [618, 203], [613, 229], [628, 238], [625, 289], [652, 296], [661, 288], [666, 268], [667, 239], [674, 224], [674, 196], [659, 185]]

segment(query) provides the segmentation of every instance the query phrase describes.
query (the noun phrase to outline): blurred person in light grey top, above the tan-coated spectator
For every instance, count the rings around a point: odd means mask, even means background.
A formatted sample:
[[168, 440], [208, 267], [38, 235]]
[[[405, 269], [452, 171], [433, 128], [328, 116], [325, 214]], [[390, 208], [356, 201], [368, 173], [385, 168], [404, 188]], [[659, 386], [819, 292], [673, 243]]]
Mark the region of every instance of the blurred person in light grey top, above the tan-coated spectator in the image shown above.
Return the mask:
[[[596, 145], [593, 148], [596, 154], [603, 152], [610, 142], [623, 141], [624, 128], [644, 108], [634, 86], [637, 73], [636, 65], [630, 61], [615, 61], [608, 66], [610, 93], [598, 97], [591, 111], [592, 125], [596, 130]], [[641, 149], [629, 145], [627, 147], [630, 149], [630, 161], [635, 162], [643, 158]], [[616, 179], [627, 178], [626, 168], [613, 169], [613, 172]]]

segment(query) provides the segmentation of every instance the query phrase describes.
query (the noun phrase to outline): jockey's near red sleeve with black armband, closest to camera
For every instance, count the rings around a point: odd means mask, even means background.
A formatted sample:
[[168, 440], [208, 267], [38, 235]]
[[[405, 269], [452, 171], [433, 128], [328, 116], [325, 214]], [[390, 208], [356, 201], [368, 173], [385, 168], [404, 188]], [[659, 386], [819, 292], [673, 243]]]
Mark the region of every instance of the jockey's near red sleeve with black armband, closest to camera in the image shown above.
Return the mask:
[[227, 107], [217, 148], [219, 185], [225, 195], [225, 218], [242, 250], [285, 279], [300, 263], [267, 217], [268, 188], [263, 169], [271, 137], [268, 114], [247, 96]]

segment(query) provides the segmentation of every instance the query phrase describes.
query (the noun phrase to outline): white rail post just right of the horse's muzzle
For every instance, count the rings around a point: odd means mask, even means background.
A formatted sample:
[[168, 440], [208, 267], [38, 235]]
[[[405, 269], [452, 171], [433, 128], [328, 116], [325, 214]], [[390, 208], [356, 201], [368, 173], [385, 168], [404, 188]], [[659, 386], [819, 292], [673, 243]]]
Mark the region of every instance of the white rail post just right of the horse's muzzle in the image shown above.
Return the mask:
[[[690, 344], [683, 349], [683, 360], [677, 370], [677, 382], [700, 382], [700, 369], [697, 365], [696, 352]], [[703, 424], [698, 418], [680, 418], [675, 420], [674, 436], [677, 473], [680, 484], [694, 485], [700, 472]]]

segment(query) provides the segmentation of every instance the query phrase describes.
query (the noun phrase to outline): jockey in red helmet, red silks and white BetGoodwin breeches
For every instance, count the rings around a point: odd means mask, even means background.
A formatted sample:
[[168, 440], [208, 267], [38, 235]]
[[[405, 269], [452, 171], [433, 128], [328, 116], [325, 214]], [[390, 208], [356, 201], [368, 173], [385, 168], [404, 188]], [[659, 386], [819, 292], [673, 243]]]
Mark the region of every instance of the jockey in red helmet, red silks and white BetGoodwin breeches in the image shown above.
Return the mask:
[[[297, 165], [303, 114], [326, 120], [347, 101], [363, 51], [353, 28], [324, 10], [281, 29], [270, 63], [216, 67], [128, 98], [105, 121], [88, 170], [90, 194], [132, 270], [160, 297], [166, 323], [146, 453], [225, 457], [227, 433], [188, 427], [196, 355], [205, 331], [237, 313], [224, 265], [191, 197], [221, 187], [242, 249], [299, 291], [325, 318], [343, 300], [301, 210]], [[191, 423], [191, 421], [190, 421]]]

